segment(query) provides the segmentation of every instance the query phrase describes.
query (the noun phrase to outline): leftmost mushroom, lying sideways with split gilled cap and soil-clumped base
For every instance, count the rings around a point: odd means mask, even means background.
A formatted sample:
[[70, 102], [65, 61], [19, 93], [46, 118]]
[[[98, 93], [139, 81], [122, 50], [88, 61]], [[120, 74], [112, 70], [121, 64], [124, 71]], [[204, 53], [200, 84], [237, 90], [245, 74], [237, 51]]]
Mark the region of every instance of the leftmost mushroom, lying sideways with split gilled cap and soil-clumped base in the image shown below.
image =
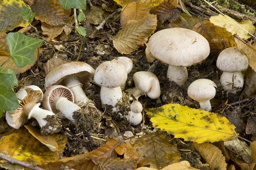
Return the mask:
[[39, 108], [43, 99], [42, 90], [34, 85], [24, 87], [16, 93], [20, 106], [6, 111], [7, 123], [15, 129], [23, 126], [28, 119], [35, 118], [41, 127], [42, 134], [58, 133], [61, 130], [60, 118], [54, 113]]

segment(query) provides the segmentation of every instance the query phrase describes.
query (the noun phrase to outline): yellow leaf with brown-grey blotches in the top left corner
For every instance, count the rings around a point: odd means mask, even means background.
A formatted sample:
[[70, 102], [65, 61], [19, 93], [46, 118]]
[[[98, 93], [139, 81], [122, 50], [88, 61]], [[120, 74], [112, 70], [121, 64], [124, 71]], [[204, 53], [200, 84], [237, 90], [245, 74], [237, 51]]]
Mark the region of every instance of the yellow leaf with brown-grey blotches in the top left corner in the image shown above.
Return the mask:
[[12, 31], [16, 27], [27, 27], [21, 16], [22, 6], [28, 6], [21, 0], [0, 1], [0, 33]]

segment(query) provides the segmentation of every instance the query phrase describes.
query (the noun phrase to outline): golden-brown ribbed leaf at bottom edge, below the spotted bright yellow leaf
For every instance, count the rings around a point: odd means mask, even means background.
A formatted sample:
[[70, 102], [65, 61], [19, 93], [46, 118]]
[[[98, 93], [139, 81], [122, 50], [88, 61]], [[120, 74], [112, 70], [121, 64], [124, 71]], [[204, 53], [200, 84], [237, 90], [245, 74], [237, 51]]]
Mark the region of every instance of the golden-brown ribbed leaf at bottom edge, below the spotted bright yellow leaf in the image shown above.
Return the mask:
[[222, 155], [221, 151], [211, 143], [193, 143], [207, 164], [209, 164], [210, 169], [226, 170], [227, 163], [225, 157]]

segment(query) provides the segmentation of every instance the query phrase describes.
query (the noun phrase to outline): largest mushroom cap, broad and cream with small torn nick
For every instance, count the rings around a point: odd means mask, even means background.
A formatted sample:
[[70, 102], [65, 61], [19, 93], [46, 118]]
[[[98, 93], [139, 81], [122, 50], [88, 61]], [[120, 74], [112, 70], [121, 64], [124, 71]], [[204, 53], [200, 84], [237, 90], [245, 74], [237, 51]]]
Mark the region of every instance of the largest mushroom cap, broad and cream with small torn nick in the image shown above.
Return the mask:
[[185, 28], [167, 28], [156, 32], [149, 38], [148, 49], [163, 63], [184, 67], [202, 62], [210, 53], [208, 41]]

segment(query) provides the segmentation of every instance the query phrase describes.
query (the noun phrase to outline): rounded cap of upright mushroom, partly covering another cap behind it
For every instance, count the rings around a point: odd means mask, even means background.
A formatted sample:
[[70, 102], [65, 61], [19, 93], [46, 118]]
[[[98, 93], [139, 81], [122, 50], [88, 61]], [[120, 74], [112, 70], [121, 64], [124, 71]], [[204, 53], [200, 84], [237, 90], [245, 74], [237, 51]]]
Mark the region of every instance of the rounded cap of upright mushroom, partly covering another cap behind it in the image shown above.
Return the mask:
[[115, 88], [125, 83], [127, 72], [123, 64], [105, 61], [95, 70], [94, 81], [103, 87]]

